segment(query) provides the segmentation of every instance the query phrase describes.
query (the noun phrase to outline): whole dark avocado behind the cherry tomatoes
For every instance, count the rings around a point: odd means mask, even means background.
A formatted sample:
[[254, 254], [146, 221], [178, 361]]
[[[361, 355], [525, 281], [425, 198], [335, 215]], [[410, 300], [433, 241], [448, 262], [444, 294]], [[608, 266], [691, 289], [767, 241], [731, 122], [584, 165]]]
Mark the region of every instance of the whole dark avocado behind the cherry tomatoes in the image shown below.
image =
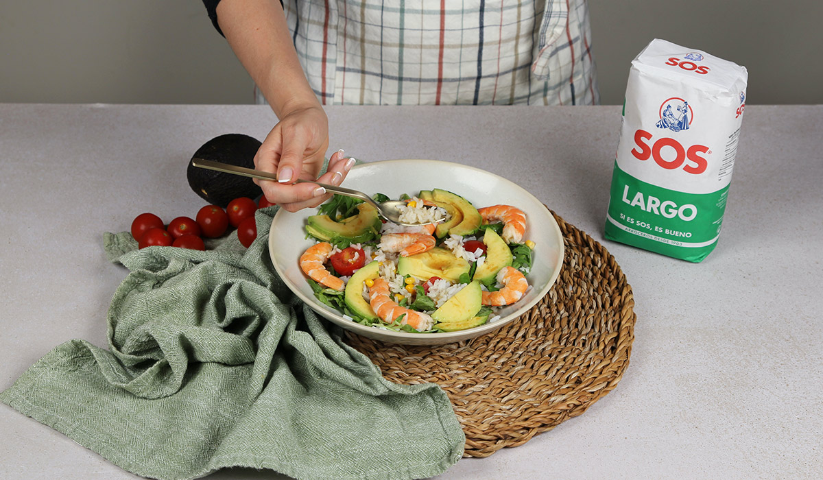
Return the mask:
[[[260, 147], [257, 138], [243, 133], [226, 133], [214, 137], [204, 143], [192, 158], [221, 161], [231, 165], [254, 168], [254, 155]], [[188, 185], [208, 203], [223, 208], [239, 197], [258, 198], [263, 190], [254, 184], [249, 177], [225, 174], [215, 170], [207, 170], [192, 165], [188, 161]]]

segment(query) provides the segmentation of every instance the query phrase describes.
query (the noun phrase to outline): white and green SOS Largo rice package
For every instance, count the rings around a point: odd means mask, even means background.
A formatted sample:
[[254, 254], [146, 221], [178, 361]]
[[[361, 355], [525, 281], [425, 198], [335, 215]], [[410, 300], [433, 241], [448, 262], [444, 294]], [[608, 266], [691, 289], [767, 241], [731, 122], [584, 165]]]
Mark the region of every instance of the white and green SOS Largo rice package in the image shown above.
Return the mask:
[[700, 262], [717, 245], [746, 68], [666, 40], [632, 61], [606, 238]]

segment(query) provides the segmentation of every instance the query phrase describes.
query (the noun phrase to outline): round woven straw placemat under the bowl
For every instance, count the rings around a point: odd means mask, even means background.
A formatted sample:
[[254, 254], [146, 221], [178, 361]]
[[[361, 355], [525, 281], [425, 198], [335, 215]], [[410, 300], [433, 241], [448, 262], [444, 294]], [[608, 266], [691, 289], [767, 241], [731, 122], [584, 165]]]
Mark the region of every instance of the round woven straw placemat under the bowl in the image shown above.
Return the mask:
[[345, 333], [346, 343], [370, 357], [386, 379], [444, 389], [466, 434], [464, 456], [523, 445], [580, 415], [615, 388], [629, 365], [631, 287], [607, 249], [552, 215], [563, 233], [563, 269], [546, 296], [514, 322], [434, 347]]

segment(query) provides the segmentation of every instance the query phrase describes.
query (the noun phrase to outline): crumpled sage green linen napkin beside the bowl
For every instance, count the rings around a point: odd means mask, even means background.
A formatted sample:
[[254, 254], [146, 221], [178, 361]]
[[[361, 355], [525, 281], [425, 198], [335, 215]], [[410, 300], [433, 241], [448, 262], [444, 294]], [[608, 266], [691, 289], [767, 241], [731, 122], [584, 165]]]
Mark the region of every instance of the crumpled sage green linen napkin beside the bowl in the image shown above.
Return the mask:
[[[295, 478], [425, 478], [465, 437], [436, 384], [385, 380], [281, 281], [258, 239], [205, 252], [137, 250], [108, 313], [109, 349], [63, 343], [0, 400], [132, 473], [198, 478], [233, 466]], [[296, 261], [296, 259], [295, 259]]]

